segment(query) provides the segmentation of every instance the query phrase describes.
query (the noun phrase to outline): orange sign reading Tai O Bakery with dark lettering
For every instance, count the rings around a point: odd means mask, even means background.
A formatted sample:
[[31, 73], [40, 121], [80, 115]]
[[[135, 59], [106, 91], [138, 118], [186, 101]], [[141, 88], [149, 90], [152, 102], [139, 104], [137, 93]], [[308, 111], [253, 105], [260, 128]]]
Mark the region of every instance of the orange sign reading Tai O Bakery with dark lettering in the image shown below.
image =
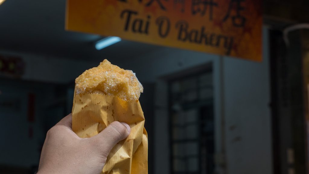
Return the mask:
[[261, 0], [67, 0], [66, 29], [261, 60]]

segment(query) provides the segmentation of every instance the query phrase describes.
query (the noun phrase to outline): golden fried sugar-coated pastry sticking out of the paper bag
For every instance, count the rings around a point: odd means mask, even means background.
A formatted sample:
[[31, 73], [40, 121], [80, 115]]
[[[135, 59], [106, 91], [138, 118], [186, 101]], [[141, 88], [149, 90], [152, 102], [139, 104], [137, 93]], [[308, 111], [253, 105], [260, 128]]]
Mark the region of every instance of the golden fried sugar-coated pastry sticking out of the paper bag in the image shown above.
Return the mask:
[[143, 92], [143, 86], [135, 73], [112, 65], [107, 59], [98, 67], [83, 72], [75, 80], [76, 94], [95, 93], [136, 101]]

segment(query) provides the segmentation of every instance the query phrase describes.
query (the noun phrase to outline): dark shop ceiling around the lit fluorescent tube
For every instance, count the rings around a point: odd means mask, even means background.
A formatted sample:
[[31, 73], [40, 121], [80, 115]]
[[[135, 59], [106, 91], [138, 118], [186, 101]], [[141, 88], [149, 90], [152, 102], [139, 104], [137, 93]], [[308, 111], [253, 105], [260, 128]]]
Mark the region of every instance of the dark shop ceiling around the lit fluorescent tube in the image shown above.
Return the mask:
[[70, 59], [133, 58], [159, 49], [121, 41], [103, 50], [101, 36], [65, 31], [65, 0], [6, 0], [0, 5], [0, 50]]

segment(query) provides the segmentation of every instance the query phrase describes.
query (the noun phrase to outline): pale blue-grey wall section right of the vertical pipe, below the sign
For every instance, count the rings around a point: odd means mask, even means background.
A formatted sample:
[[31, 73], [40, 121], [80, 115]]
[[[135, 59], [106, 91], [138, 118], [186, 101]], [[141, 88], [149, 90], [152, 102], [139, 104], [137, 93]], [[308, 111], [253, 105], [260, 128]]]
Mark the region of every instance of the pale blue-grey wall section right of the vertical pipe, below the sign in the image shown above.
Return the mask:
[[272, 173], [268, 32], [261, 63], [224, 59], [224, 113], [229, 174]]

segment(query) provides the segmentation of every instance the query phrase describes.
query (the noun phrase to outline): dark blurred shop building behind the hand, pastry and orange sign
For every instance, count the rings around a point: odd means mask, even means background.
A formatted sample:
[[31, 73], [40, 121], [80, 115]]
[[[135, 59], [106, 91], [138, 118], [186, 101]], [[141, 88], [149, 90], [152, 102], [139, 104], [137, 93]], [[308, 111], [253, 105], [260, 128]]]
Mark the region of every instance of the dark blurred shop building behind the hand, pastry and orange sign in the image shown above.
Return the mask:
[[[264, 1], [263, 61], [65, 31], [66, 2], [0, 5], [0, 173], [34, 173], [46, 132], [71, 112], [74, 80], [104, 59], [133, 70], [149, 174], [308, 173], [307, 1]], [[8, 65], [4, 69], [4, 64]]]

